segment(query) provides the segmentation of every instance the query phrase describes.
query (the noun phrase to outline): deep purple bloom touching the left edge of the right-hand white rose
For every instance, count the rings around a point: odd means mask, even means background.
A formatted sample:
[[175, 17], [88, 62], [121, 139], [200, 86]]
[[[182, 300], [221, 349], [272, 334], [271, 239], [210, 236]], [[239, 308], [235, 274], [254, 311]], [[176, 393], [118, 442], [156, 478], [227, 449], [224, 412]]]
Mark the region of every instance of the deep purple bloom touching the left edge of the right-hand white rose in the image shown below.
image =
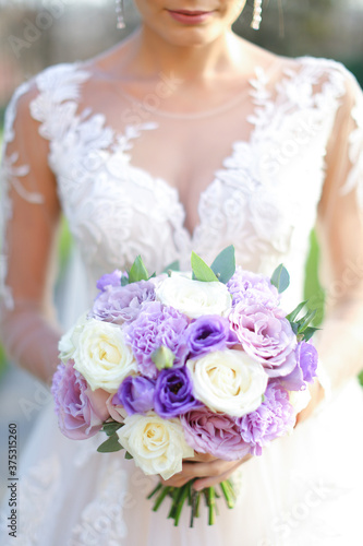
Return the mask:
[[155, 412], [160, 417], [177, 417], [201, 405], [193, 396], [193, 382], [185, 366], [160, 371], [156, 380], [154, 401]]

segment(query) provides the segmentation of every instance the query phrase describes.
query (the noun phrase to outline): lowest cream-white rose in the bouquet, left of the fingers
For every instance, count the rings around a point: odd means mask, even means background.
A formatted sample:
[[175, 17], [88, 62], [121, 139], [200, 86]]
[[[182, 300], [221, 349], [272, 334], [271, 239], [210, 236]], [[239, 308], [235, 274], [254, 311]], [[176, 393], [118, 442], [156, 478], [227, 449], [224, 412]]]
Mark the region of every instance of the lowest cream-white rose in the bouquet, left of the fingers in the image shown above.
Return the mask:
[[153, 412], [134, 414], [125, 418], [117, 434], [136, 466], [147, 475], [160, 474], [169, 479], [181, 472], [184, 458], [194, 456], [179, 419], [162, 419]]

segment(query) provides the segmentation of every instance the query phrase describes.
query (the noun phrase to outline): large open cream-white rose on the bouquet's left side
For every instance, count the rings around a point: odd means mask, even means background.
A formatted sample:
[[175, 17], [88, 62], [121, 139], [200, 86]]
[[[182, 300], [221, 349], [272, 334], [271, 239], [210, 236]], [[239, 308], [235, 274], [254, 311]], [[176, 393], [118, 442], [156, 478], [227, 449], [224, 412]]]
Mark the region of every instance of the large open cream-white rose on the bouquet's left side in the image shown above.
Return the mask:
[[121, 328], [95, 319], [85, 322], [73, 359], [74, 368], [83, 375], [93, 391], [104, 389], [117, 392], [123, 379], [137, 371]]

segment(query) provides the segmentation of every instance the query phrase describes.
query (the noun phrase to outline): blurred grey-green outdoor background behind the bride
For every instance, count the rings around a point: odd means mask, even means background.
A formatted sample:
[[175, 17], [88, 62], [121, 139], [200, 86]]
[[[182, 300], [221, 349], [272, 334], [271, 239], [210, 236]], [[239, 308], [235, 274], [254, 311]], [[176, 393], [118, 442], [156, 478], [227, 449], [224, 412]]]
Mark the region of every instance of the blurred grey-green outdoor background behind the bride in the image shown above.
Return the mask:
[[[87, 59], [125, 37], [138, 19], [132, 0], [124, 3], [126, 28], [119, 31], [114, 0], [0, 0], [0, 142], [4, 110], [15, 87], [50, 64]], [[259, 32], [250, 28], [253, 0], [247, 0], [235, 32], [280, 55], [339, 60], [363, 84], [363, 0], [265, 0], [263, 7]], [[314, 233], [311, 241], [305, 293], [323, 301]], [[70, 247], [64, 222], [58, 290]], [[322, 317], [323, 311], [317, 322]], [[8, 423], [20, 424], [22, 449], [47, 396], [34, 378], [7, 363], [0, 346], [1, 438], [5, 440]], [[5, 446], [0, 449], [2, 459]]]

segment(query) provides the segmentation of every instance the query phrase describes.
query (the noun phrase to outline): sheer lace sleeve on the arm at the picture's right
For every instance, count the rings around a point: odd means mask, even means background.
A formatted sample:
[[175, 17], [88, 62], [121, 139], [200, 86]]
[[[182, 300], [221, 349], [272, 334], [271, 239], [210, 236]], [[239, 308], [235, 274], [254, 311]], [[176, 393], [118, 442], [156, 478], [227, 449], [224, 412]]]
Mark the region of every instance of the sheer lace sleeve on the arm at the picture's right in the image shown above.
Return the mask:
[[317, 226], [327, 307], [319, 353], [334, 388], [363, 368], [363, 95], [341, 70], [347, 91], [327, 151]]

